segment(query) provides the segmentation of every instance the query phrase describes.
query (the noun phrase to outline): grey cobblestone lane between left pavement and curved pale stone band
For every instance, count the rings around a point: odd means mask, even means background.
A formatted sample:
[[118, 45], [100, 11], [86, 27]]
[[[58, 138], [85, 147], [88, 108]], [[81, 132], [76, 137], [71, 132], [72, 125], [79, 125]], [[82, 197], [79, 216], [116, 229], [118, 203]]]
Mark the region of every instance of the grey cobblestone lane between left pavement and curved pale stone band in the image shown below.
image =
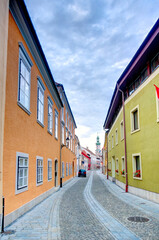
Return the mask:
[[65, 192], [60, 205], [61, 240], [114, 239], [95, 218], [86, 204], [83, 191], [87, 178], [80, 178]]

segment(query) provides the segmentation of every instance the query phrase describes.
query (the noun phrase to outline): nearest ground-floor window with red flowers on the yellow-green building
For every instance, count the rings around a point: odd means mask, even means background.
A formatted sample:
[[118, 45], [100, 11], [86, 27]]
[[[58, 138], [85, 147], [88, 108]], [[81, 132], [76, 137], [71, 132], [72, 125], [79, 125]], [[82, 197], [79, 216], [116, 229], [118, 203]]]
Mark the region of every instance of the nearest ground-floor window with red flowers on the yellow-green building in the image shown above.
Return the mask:
[[133, 160], [133, 177], [141, 179], [141, 177], [142, 177], [141, 154], [140, 153], [133, 154], [132, 160]]

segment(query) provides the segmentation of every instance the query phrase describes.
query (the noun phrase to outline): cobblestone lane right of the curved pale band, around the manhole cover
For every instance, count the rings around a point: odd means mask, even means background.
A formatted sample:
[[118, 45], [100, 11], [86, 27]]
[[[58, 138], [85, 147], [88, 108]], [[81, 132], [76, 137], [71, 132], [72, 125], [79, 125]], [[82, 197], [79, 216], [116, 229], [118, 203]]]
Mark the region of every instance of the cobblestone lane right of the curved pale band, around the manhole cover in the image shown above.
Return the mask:
[[[134, 232], [138, 237], [143, 240], [159, 239], [159, 220], [154, 218], [152, 214], [148, 214], [148, 211], [145, 213], [144, 210], [139, 210], [138, 207], [135, 207], [135, 204], [134, 206], [129, 205], [129, 203], [116, 197], [107, 189], [97, 174], [93, 176], [92, 194], [113, 218]], [[135, 199], [135, 196], [133, 198]], [[137, 223], [128, 221], [128, 217], [132, 216], [146, 217], [150, 220]]]

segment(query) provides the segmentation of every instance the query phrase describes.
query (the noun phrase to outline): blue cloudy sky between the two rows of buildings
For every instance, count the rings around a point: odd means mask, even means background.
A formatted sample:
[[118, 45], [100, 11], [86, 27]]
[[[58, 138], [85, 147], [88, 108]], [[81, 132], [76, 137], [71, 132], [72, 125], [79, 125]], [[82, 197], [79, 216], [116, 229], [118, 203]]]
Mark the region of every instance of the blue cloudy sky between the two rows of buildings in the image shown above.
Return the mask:
[[95, 150], [116, 81], [159, 17], [159, 0], [25, 0], [81, 145]]

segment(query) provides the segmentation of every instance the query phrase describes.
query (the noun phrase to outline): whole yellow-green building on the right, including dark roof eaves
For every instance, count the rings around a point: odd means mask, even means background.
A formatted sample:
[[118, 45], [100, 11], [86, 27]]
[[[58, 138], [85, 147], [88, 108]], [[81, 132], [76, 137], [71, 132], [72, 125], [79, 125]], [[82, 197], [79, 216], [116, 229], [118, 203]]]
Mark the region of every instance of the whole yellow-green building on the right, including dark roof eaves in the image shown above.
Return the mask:
[[108, 175], [125, 191], [159, 202], [159, 20], [117, 81], [104, 123]]

